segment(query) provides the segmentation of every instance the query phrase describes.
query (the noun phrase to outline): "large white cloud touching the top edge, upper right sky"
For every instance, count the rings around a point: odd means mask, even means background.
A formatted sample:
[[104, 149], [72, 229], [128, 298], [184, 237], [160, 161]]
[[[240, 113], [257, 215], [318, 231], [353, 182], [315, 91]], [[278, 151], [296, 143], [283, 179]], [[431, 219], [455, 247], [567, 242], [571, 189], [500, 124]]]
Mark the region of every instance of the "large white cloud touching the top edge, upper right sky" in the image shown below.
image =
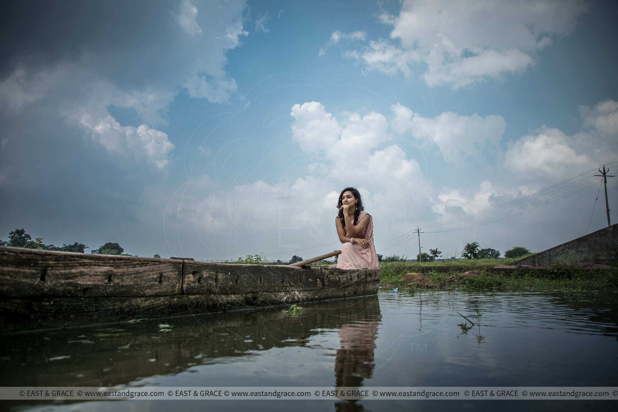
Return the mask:
[[423, 71], [429, 86], [460, 88], [531, 67], [586, 9], [583, 0], [404, 0], [399, 14], [380, 17], [392, 26], [389, 39], [348, 48], [345, 56], [370, 70]]

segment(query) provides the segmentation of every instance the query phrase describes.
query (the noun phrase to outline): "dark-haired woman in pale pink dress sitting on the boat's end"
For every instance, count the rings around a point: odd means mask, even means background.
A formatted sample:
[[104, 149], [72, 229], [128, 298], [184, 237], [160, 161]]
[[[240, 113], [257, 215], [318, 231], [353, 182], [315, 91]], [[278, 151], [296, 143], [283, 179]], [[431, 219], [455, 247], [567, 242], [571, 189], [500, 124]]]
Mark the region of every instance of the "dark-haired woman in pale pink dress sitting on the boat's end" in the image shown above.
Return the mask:
[[341, 254], [337, 259], [339, 269], [375, 269], [379, 267], [378, 255], [373, 245], [373, 222], [363, 211], [360, 193], [347, 187], [339, 195], [339, 214], [335, 219], [337, 235], [341, 240]]

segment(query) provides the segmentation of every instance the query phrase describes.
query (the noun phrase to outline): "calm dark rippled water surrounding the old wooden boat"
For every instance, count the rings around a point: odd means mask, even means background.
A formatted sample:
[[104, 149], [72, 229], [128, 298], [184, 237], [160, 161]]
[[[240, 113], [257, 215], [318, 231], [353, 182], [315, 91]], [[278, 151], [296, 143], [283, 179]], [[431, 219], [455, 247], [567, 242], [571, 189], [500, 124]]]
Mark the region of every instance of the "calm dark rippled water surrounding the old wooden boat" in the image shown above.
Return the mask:
[[[617, 293], [380, 292], [4, 335], [1, 386], [616, 386]], [[465, 318], [467, 319], [465, 319]], [[471, 324], [473, 322], [473, 325]], [[176, 402], [176, 403], [172, 403]], [[4, 410], [614, 410], [612, 401], [5, 401]]]

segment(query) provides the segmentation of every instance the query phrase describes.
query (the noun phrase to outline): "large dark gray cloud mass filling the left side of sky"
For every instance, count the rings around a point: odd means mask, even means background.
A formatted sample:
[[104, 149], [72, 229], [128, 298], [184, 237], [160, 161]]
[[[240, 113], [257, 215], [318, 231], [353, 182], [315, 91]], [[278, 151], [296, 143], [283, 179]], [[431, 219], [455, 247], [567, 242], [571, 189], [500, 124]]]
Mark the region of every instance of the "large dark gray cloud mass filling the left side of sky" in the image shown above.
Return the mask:
[[[164, 198], [182, 144], [161, 130], [167, 107], [183, 90], [218, 103], [235, 93], [226, 51], [245, 34], [244, 9], [243, 1], [1, 2], [0, 238], [24, 227], [45, 242], [96, 248], [150, 230], [142, 219], [163, 219], [165, 199], [151, 196]], [[135, 121], [114, 119], [112, 106]]]

